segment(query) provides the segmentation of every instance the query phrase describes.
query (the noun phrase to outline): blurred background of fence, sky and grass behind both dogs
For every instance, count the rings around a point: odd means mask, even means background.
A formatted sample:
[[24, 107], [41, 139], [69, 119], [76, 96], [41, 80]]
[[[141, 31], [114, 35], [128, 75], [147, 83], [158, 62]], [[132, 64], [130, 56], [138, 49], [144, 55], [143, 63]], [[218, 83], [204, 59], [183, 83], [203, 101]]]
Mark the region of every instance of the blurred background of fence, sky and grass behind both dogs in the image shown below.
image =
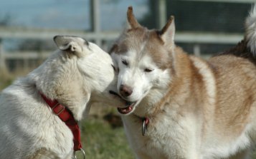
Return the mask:
[[[176, 44], [209, 58], [234, 46], [255, 0], [1, 0], [0, 91], [39, 66], [57, 47], [55, 35], [81, 36], [108, 51], [123, 30], [128, 6], [148, 29], [175, 16]], [[88, 158], [134, 158], [114, 108], [93, 106], [83, 120]]]

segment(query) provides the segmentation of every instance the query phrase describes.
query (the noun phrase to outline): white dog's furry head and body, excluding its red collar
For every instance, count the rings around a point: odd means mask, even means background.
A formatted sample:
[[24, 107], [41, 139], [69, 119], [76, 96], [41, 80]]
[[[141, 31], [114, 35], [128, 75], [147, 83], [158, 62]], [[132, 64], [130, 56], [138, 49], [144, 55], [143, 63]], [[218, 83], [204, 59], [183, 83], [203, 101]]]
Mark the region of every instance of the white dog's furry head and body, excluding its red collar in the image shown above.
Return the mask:
[[58, 51], [0, 97], [0, 158], [72, 158], [71, 130], [40, 93], [59, 101], [75, 120], [91, 103], [123, 105], [116, 90], [112, 58], [94, 43], [75, 36], [55, 36]]

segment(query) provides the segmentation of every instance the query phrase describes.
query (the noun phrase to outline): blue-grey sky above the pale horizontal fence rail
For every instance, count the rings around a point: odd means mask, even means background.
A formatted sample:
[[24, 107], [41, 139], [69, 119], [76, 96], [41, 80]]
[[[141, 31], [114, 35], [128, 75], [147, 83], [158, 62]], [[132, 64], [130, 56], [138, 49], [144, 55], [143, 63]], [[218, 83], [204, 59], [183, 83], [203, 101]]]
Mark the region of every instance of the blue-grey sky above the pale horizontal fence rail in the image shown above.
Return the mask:
[[[49, 29], [90, 29], [90, 0], [0, 0], [0, 21], [9, 16], [10, 26]], [[100, 0], [100, 28], [120, 30], [128, 6], [141, 19], [148, 13], [148, 0]]]

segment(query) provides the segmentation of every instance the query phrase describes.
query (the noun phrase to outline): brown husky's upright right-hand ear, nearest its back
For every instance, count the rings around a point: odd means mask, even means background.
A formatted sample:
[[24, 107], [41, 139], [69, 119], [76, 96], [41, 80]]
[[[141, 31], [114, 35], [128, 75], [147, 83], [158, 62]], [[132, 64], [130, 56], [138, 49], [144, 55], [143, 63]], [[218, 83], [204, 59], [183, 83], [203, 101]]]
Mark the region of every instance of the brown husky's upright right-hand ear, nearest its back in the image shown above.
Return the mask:
[[161, 39], [164, 45], [173, 46], [174, 45], [174, 34], [175, 34], [175, 24], [174, 16], [171, 16], [167, 21], [166, 25], [160, 31]]

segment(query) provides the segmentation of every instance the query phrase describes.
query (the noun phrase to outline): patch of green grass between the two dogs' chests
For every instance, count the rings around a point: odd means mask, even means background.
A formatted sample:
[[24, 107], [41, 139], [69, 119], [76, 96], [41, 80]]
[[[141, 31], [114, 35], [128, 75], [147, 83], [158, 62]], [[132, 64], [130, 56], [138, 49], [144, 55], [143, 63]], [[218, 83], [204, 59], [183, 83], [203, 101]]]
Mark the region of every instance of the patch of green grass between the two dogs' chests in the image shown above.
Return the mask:
[[134, 159], [123, 127], [112, 128], [101, 118], [87, 118], [80, 127], [86, 159]]

